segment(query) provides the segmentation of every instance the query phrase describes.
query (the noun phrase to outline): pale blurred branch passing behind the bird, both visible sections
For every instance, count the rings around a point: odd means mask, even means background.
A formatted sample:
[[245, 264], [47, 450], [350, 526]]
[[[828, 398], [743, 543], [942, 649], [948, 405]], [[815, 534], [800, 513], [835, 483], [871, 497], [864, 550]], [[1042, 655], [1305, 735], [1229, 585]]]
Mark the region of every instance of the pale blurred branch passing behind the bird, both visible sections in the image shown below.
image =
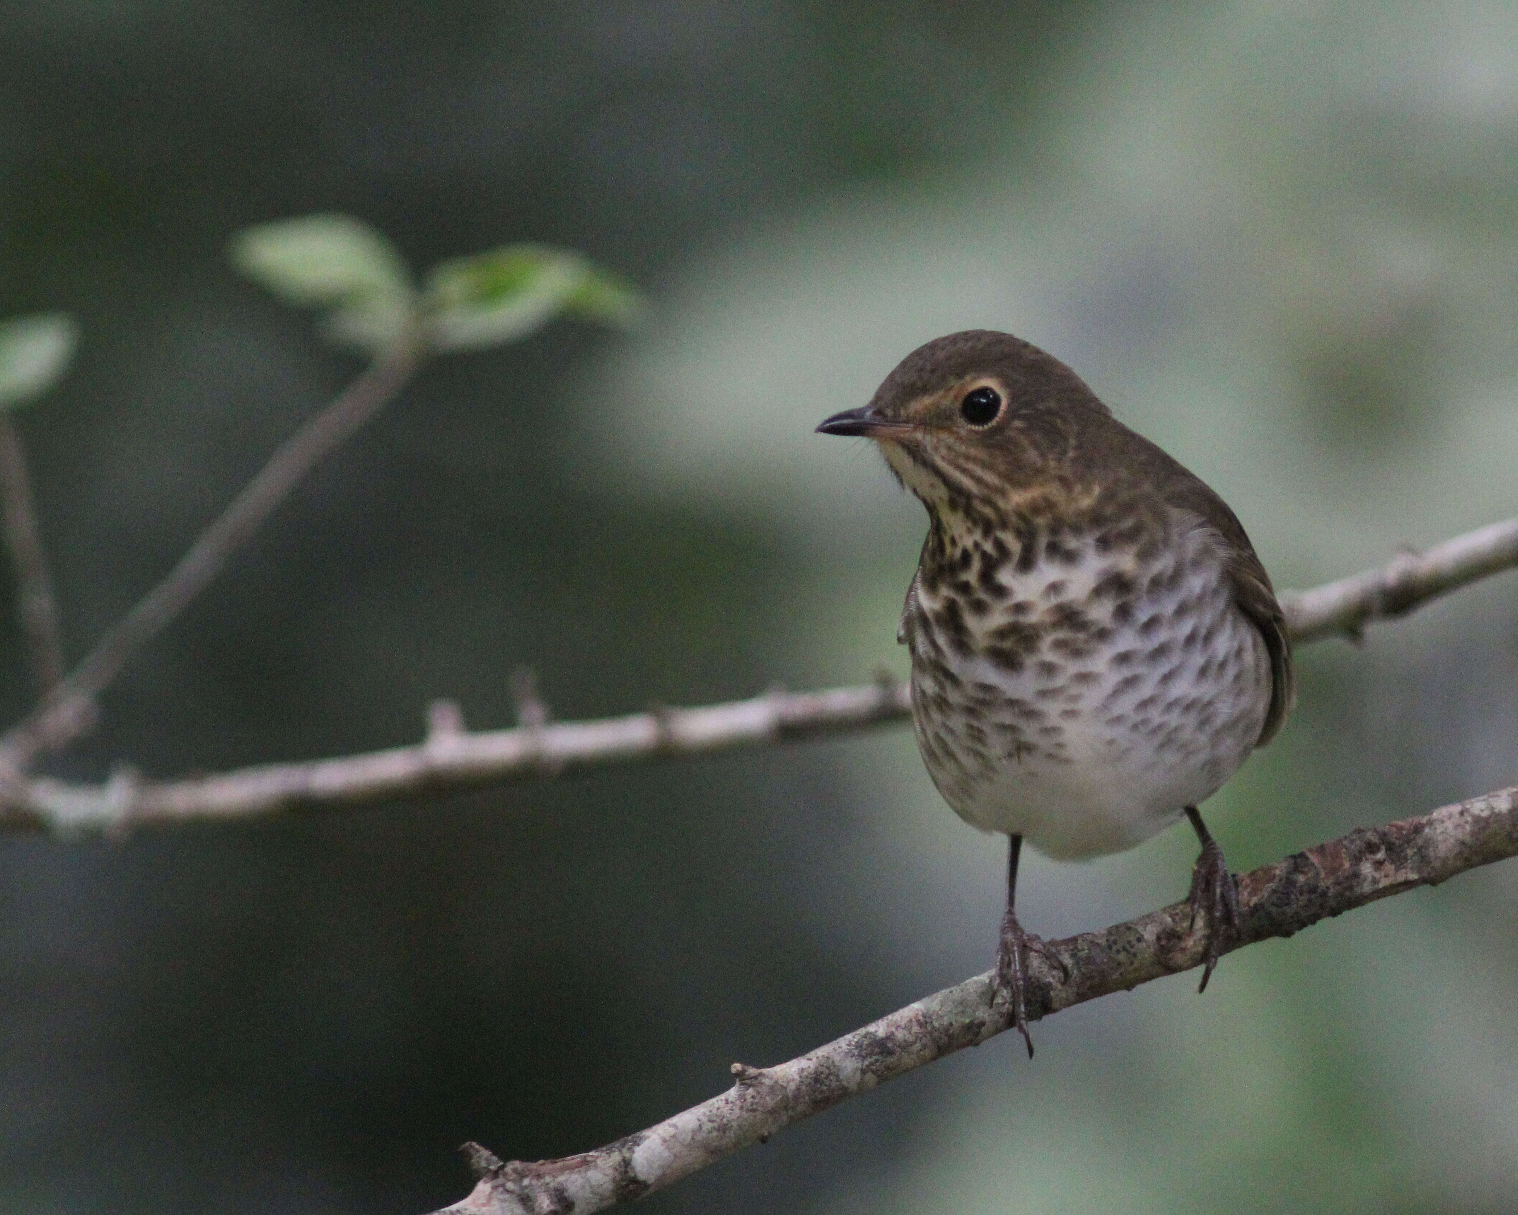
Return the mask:
[[[1299, 642], [1319, 641], [1356, 630], [1368, 620], [1400, 615], [1515, 563], [1518, 519], [1509, 519], [1456, 536], [1421, 556], [1400, 556], [1378, 570], [1312, 591], [1287, 591], [1281, 603], [1292, 636]], [[414, 747], [263, 764], [188, 781], [143, 781], [132, 791], [131, 822], [147, 826], [378, 802], [595, 765], [847, 734], [911, 715], [906, 686], [883, 674], [858, 688], [774, 691], [726, 705], [562, 723], [546, 721], [536, 693], [522, 697], [524, 686], [516, 688], [524, 720], [519, 729], [471, 734], [460, 718], [457, 729]], [[0, 785], [0, 829], [103, 831], [121, 813], [120, 799], [100, 785], [41, 778]]]

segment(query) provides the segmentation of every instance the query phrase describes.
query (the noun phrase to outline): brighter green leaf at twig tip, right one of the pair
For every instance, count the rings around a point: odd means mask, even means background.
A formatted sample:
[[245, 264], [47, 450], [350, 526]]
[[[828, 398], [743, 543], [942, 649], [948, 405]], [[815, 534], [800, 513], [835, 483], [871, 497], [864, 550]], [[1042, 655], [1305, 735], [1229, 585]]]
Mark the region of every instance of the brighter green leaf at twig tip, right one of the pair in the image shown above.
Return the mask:
[[638, 295], [569, 249], [507, 245], [433, 267], [424, 292], [433, 348], [480, 349], [525, 337], [560, 313], [621, 323]]

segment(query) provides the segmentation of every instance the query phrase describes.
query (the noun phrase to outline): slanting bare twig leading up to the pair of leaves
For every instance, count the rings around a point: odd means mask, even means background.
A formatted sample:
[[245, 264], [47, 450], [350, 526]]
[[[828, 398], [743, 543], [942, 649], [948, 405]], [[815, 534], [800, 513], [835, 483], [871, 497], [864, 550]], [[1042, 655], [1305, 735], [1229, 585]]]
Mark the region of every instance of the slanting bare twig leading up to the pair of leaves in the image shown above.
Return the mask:
[[0, 768], [26, 772], [38, 753], [79, 737], [94, 718], [96, 697], [121, 667], [199, 595], [296, 484], [375, 416], [416, 374], [424, 348], [407, 334], [287, 439], [222, 515], [196, 538], [173, 570], [55, 686], [35, 712], [0, 738]]

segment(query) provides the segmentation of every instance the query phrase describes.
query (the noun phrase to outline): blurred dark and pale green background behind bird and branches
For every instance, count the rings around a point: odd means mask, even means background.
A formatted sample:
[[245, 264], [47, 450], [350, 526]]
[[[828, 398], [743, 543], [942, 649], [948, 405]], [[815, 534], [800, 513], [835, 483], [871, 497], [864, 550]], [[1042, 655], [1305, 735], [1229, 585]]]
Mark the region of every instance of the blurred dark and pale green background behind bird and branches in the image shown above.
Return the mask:
[[[52, 770], [414, 741], [905, 671], [923, 521], [811, 433], [1006, 328], [1208, 480], [1281, 586], [1518, 510], [1518, 6], [0, 5], [0, 317], [79, 656], [358, 363], [238, 279], [351, 211], [639, 282], [430, 368]], [[11, 617], [0, 700], [26, 708]], [[1211, 803], [1236, 869], [1518, 781], [1513, 576], [1301, 655]], [[1167, 832], [1026, 864], [1025, 923], [1179, 898]], [[902, 727], [124, 841], [0, 841], [0, 1207], [416, 1212], [985, 969], [1002, 844]], [[1500, 1212], [1518, 867], [946, 1060], [650, 1210]]]

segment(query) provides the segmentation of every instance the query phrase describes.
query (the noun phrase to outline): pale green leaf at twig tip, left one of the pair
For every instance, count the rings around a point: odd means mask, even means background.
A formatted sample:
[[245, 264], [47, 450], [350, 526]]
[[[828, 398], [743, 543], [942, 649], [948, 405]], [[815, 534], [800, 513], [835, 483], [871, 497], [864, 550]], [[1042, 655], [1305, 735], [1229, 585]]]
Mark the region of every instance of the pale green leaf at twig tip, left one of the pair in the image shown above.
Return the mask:
[[328, 308], [337, 342], [383, 349], [411, 319], [411, 275], [395, 246], [352, 216], [302, 216], [244, 228], [232, 264], [287, 304]]

